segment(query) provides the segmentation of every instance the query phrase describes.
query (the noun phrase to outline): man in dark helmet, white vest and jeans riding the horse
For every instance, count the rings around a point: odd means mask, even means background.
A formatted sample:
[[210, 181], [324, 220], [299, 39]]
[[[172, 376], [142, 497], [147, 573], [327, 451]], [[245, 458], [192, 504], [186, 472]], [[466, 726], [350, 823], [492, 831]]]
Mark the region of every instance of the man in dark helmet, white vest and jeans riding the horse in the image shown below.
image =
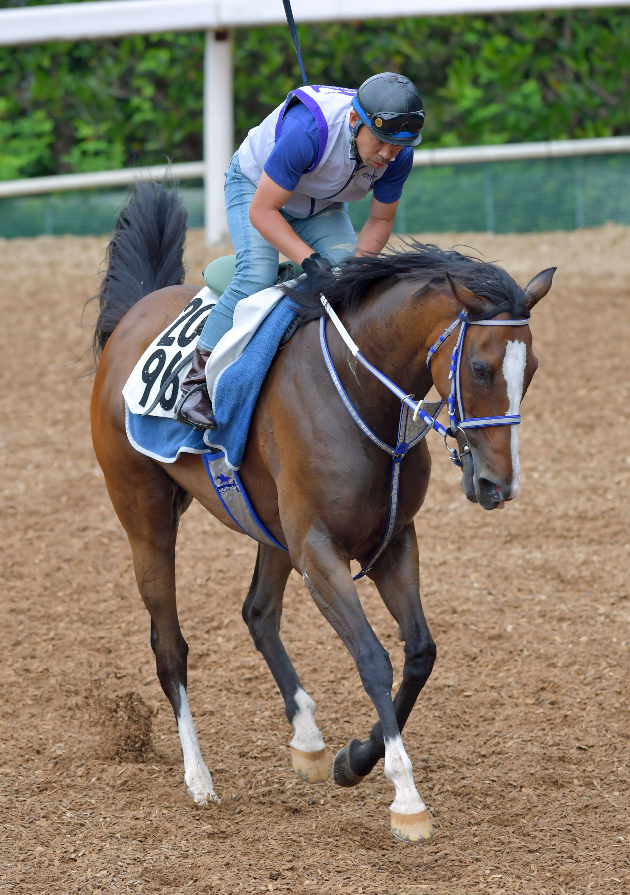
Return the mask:
[[[234, 153], [226, 172], [226, 211], [236, 254], [234, 279], [209, 314], [182, 384], [179, 422], [216, 429], [206, 364], [232, 327], [241, 299], [273, 286], [278, 251], [306, 271], [348, 255], [379, 252], [421, 141], [420, 93], [403, 75], [375, 74], [359, 90], [292, 90]], [[357, 242], [348, 201], [372, 190]]]

